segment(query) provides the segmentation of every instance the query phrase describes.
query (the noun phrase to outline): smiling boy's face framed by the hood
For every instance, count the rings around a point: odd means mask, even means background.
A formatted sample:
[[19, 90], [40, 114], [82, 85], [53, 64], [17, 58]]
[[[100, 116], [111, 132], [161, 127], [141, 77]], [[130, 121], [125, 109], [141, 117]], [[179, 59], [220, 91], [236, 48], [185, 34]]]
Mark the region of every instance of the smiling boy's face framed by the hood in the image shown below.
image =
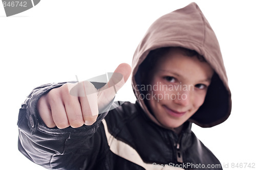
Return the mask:
[[148, 104], [163, 126], [177, 128], [204, 103], [214, 70], [180, 49], [169, 51], [156, 64]]

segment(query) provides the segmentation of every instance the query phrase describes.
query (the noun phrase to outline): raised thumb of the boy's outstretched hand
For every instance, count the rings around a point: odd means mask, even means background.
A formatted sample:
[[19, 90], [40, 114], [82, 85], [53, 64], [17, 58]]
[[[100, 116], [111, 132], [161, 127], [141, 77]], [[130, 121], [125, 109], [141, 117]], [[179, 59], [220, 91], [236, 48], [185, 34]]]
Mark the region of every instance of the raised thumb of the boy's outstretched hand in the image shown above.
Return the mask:
[[106, 100], [105, 102], [109, 103], [111, 100], [113, 100], [117, 91], [125, 84], [127, 79], [130, 77], [131, 72], [132, 68], [129, 64], [119, 64], [118, 67], [115, 69], [109, 82], [106, 83], [102, 88], [98, 89], [98, 101]]

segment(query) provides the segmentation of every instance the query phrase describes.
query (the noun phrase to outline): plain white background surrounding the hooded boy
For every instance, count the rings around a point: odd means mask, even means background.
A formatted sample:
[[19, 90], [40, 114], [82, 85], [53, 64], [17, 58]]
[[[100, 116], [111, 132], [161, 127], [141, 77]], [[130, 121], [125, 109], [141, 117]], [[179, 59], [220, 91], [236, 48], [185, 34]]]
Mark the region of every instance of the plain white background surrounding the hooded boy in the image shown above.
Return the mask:
[[[196, 1], [221, 46], [232, 112], [217, 127], [194, 125], [193, 130], [222, 165], [228, 163], [229, 168], [224, 169], [232, 169], [231, 163], [256, 163], [254, 2]], [[76, 80], [75, 75], [86, 80], [112, 72], [122, 62], [131, 64], [151, 23], [189, 3], [42, 0], [12, 17], [6, 17], [0, 5], [1, 166], [44, 169], [17, 150], [18, 109], [34, 87]], [[130, 82], [118, 92], [117, 99], [135, 102]]]

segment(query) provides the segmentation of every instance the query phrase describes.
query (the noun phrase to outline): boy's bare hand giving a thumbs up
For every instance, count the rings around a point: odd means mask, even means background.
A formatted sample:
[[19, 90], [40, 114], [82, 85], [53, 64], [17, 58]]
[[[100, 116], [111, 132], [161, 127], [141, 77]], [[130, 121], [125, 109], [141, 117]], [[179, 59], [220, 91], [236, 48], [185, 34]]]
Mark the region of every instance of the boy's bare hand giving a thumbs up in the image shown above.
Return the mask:
[[54, 88], [38, 100], [37, 111], [49, 128], [92, 125], [96, 122], [99, 110], [108, 106], [127, 81], [131, 70], [129, 64], [120, 64], [109, 82], [100, 89], [96, 89], [89, 81], [67, 83]]

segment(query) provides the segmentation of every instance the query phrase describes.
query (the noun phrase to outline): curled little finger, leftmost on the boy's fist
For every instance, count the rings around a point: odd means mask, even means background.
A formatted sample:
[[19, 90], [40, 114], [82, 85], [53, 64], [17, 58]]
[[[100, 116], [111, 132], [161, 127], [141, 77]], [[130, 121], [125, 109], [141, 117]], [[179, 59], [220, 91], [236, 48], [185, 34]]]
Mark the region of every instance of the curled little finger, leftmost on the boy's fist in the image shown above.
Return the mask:
[[45, 95], [41, 96], [41, 98], [38, 100], [36, 108], [42, 121], [48, 128], [56, 127], [55, 123], [53, 122], [52, 112], [47, 104]]

